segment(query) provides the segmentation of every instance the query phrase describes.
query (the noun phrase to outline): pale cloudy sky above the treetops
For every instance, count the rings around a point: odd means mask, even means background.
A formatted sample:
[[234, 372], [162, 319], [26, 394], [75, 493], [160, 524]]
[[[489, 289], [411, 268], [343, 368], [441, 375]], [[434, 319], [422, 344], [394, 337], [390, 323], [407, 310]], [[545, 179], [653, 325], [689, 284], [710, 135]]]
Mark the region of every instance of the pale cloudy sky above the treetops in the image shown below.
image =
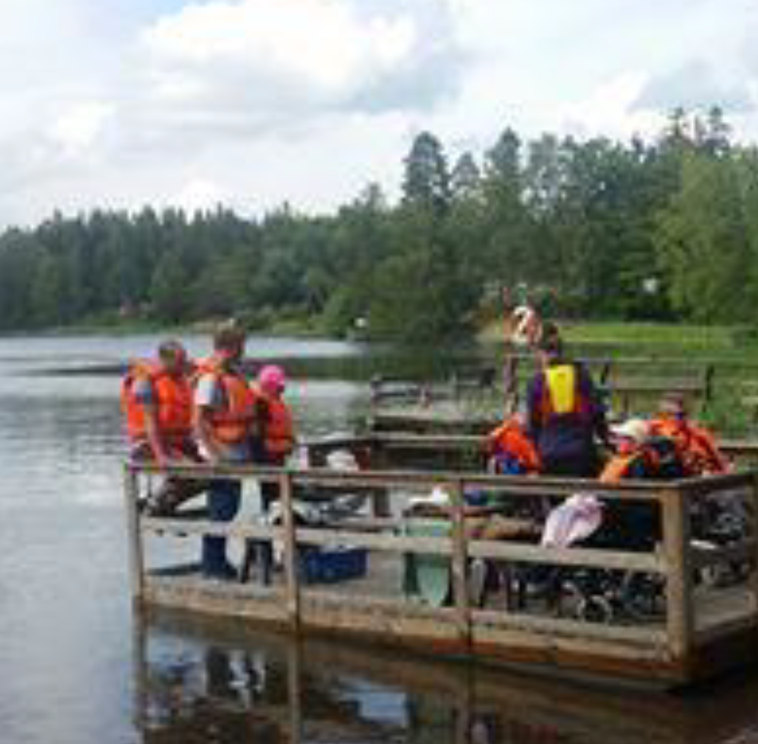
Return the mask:
[[0, 0], [0, 225], [393, 199], [424, 130], [758, 141], [756, 38], [755, 0]]

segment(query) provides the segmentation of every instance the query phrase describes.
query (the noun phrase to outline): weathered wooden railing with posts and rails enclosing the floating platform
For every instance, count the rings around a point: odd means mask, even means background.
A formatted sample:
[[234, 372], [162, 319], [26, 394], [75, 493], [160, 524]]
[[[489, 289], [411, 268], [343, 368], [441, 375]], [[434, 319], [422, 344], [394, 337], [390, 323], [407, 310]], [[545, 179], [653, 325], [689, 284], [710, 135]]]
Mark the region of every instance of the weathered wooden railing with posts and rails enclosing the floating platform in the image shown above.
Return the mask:
[[[344, 443], [344, 442], [343, 442]], [[697, 499], [709, 493], [738, 489], [750, 500], [758, 514], [756, 477], [753, 473], [672, 483], [627, 482], [621, 486], [601, 486], [587, 480], [493, 477], [460, 471], [365, 470], [339, 472], [325, 468], [290, 470], [262, 467], [176, 467], [171, 474], [189, 478], [234, 477], [240, 480], [274, 482], [280, 489], [283, 520], [271, 526], [262, 521], [218, 523], [145, 517], [137, 503], [147, 477], [158, 471], [147, 465], [127, 465], [125, 484], [129, 526], [130, 567], [133, 596], [143, 602], [186, 604], [199, 611], [217, 611], [255, 617], [292, 630], [312, 627], [324, 632], [355, 634], [374, 639], [415, 642], [427, 649], [484, 653], [504, 658], [550, 658], [551, 663], [584, 667], [590, 671], [613, 669], [622, 674], [656, 675], [662, 679], [686, 681], [690, 678], [697, 648], [710, 639], [722, 638], [735, 627], [754, 628], [758, 623], [758, 580], [744, 587], [747, 602], [735, 615], [716, 614], [710, 619], [706, 596], [696, 601], [695, 569], [704, 564], [756, 556], [755, 527], [750, 537], [735, 545], [716, 548], [702, 555], [691, 545], [690, 514]], [[390, 514], [368, 520], [346, 519], [339, 524], [302, 527], [296, 524], [295, 492], [305, 486], [324, 489], [364, 490], [372, 496], [384, 493]], [[443, 486], [450, 495], [446, 519], [449, 536], [409, 536], [402, 529], [402, 513], [409, 492], [428, 493]], [[509, 505], [534, 505], [544, 499], [563, 499], [575, 493], [590, 493], [608, 501], [654, 502], [662, 514], [662, 542], [652, 552], [609, 549], [556, 549], [509, 540], [475, 539], [468, 526], [474, 518], [465, 504], [465, 493], [474, 489], [502, 495]], [[399, 504], [398, 502], [402, 502]], [[283, 545], [283, 574], [273, 586], [227, 591], [226, 599], [203, 599], [202, 591], [184, 592], [181, 599], [171, 596], [169, 578], [146, 568], [143, 537], [223, 535], [243, 540], [276, 540]], [[351, 545], [371, 555], [439, 555], [450, 561], [449, 606], [432, 607], [411, 602], [399, 587], [368, 586], [368, 594], [349, 592], [334, 586], [305, 584], [299, 570], [299, 552], [306, 545]], [[665, 615], [659, 621], [634, 624], [610, 618], [605, 624], [589, 623], [575, 617], [547, 612], [510, 611], [509, 608], [479, 608], [470, 601], [470, 561], [481, 558], [498, 565], [553, 567], [571, 571], [584, 567], [597, 571], [656, 574], [665, 586]], [[753, 572], [755, 577], [756, 572]], [[202, 584], [202, 581], [199, 582]], [[356, 585], [357, 586], [357, 585]], [[248, 589], [248, 587], [246, 587]], [[214, 590], [218, 594], [218, 589]], [[713, 599], [713, 598], [712, 598]], [[716, 597], [713, 602], [716, 602]], [[705, 602], [705, 605], [703, 605]], [[705, 606], [705, 609], [703, 609]]]

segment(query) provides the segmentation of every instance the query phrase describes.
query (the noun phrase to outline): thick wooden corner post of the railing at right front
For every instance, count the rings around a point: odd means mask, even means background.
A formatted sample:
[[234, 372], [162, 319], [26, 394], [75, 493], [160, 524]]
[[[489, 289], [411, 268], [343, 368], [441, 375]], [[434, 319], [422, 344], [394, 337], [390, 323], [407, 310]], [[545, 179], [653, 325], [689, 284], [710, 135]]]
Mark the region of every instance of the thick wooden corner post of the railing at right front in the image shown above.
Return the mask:
[[684, 489], [661, 494], [663, 552], [666, 558], [666, 633], [673, 658], [688, 661], [694, 627], [690, 499]]

